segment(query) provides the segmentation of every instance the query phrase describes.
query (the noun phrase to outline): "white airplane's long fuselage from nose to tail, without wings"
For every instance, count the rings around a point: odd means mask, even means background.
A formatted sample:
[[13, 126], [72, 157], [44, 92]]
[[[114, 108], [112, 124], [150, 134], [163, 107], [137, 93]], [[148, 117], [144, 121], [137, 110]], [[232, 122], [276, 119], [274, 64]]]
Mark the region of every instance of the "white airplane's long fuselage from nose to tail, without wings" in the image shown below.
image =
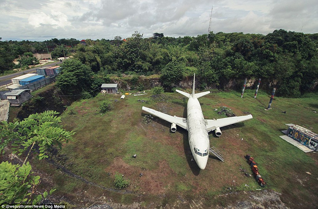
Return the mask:
[[199, 168], [204, 169], [209, 157], [210, 140], [201, 105], [196, 97], [188, 100], [187, 130], [193, 158]]

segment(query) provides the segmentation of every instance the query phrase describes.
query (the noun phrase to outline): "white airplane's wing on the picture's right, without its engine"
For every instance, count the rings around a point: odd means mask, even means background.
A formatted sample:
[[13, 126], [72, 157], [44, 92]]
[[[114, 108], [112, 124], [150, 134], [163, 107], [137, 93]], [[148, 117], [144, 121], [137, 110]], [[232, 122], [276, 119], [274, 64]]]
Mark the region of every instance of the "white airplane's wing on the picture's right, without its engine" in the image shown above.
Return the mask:
[[244, 115], [244, 116], [235, 116], [235, 117], [229, 117], [229, 118], [220, 118], [217, 120], [206, 120], [208, 123], [206, 125], [206, 128], [209, 131], [215, 130], [217, 127], [223, 127], [235, 123], [239, 123], [248, 119], [252, 119], [252, 115]]

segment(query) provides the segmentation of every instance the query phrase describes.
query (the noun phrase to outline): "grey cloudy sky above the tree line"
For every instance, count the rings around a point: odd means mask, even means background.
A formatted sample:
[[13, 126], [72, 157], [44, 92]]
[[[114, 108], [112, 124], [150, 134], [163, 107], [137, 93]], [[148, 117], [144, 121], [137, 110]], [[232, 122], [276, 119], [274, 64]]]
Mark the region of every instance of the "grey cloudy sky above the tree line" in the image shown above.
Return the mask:
[[0, 37], [197, 36], [208, 32], [212, 6], [214, 33], [318, 32], [317, 0], [0, 0]]

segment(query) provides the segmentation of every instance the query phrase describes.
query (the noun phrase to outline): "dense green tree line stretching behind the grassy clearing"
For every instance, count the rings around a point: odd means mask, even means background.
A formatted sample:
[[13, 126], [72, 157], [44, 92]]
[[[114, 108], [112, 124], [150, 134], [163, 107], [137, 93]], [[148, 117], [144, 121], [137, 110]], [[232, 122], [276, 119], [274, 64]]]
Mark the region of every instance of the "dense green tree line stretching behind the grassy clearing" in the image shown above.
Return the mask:
[[[280, 29], [267, 35], [210, 32], [174, 38], [154, 33], [153, 37], [144, 38], [136, 31], [123, 40], [119, 36], [114, 40], [88, 39], [86, 45], [75, 45], [74, 39], [51, 39], [45, 43], [48, 47], [55, 44], [52, 54], [58, 57], [62, 52], [69, 53], [65, 45], [70, 43], [66, 40], [73, 43], [74, 58], [96, 78], [122, 73], [160, 74], [166, 88], [193, 73], [200, 77], [202, 88], [231, 79], [265, 78], [276, 84], [279, 95], [298, 97], [312, 91], [318, 77], [318, 34]], [[5, 48], [10, 42], [0, 43]], [[10, 68], [7, 61], [19, 53], [24, 51], [1, 57], [0, 64]]]

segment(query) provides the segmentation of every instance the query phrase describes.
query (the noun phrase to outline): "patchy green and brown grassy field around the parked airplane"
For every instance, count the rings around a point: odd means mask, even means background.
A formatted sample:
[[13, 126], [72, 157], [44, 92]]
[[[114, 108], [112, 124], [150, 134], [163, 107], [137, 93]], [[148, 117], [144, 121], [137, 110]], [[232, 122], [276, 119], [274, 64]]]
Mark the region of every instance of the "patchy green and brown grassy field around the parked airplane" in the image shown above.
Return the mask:
[[[145, 123], [147, 106], [170, 115], [185, 117], [187, 99], [177, 93], [164, 93], [153, 98], [144, 96], [98, 95], [96, 98], [74, 102], [62, 114], [63, 125], [74, 130], [73, 141], [63, 147], [54, 160], [102, 187], [87, 185], [67, 176], [45, 161], [34, 165], [45, 170], [57, 196], [71, 199], [72, 204], [86, 201], [113, 201], [140, 203], [145, 207], [226, 206], [227, 199], [219, 195], [235, 191], [255, 191], [261, 187], [253, 177], [246, 177], [245, 169], [252, 173], [245, 160], [251, 154], [259, 167], [267, 188], [282, 193], [282, 201], [291, 208], [315, 208], [318, 202], [318, 156], [304, 153], [279, 136], [286, 123], [293, 123], [318, 132], [318, 95], [303, 98], [275, 98], [271, 110], [265, 110], [269, 95], [254, 91], [240, 93], [213, 92], [199, 98], [206, 119], [222, 118], [215, 109], [231, 108], [237, 116], [252, 114], [253, 119], [225, 127], [222, 136], [210, 134], [210, 144], [217, 147], [225, 162], [210, 157], [205, 170], [191, 161], [187, 132], [181, 128], [170, 132], [170, 124], [159, 118]], [[112, 101], [114, 109], [101, 114], [99, 105]], [[282, 113], [286, 111], [286, 113]], [[241, 140], [243, 138], [243, 140]], [[132, 156], [137, 154], [136, 158]], [[306, 172], [310, 172], [308, 174]], [[121, 173], [130, 184], [124, 192], [114, 192], [114, 176]], [[141, 176], [142, 173], [142, 176]], [[248, 185], [248, 186], [246, 186]], [[242, 197], [241, 197], [242, 198]], [[81, 201], [80, 201], [81, 200]], [[179, 204], [179, 205], [178, 205]], [[191, 205], [192, 204], [192, 205]]]

